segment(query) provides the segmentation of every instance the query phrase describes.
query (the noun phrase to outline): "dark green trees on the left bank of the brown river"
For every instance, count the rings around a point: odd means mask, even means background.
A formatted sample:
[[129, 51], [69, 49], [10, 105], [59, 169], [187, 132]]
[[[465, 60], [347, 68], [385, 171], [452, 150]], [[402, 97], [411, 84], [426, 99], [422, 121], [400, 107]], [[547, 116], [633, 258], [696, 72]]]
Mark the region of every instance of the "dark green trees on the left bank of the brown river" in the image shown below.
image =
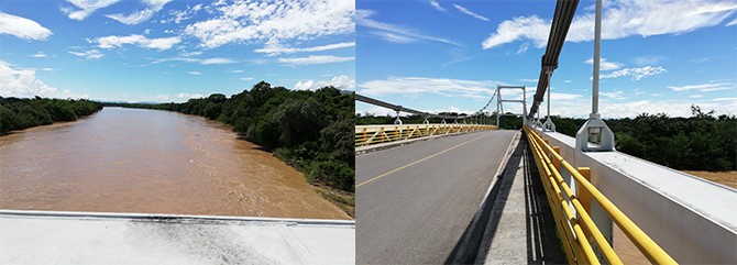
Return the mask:
[[76, 121], [102, 109], [102, 104], [86, 99], [32, 99], [0, 97], [0, 135], [10, 131]]

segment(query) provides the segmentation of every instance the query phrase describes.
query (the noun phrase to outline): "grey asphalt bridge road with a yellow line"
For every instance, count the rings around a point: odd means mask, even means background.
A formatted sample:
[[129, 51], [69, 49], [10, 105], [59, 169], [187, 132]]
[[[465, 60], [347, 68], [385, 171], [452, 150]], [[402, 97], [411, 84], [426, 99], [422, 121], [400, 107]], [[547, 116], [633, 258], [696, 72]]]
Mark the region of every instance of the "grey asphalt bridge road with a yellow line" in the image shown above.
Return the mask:
[[358, 155], [356, 263], [444, 263], [514, 134], [474, 132]]

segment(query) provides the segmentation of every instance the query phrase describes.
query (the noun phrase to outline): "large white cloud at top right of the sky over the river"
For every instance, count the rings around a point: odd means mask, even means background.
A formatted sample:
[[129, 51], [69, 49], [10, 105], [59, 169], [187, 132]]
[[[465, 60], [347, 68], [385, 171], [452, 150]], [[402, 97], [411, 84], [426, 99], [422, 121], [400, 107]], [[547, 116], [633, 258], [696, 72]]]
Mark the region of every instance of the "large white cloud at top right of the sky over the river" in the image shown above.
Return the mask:
[[355, 31], [355, 1], [285, 0], [232, 4], [216, 2], [209, 7], [219, 15], [185, 27], [204, 47], [229, 43], [262, 43], [284, 40], [312, 40]]

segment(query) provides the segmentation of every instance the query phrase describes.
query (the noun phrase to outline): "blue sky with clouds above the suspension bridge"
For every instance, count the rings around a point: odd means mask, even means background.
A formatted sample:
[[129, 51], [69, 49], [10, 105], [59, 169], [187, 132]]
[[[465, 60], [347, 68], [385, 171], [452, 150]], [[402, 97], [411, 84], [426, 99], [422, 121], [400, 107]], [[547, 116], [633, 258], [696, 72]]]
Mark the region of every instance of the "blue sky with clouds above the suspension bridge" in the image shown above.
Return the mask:
[[[737, 1], [604, 2], [603, 117], [690, 117], [691, 104], [737, 114]], [[521, 85], [529, 104], [554, 7], [554, 1], [359, 0], [356, 92], [425, 111], [475, 112], [497, 84]], [[576, 10], [552, 76], [552, 114], [591, 112], [593, 7], [594, 1], [581, 1]], [[505, 109], [521, 112], [514, 104]], [[392, 111], [356, 103], [356, 112]]]

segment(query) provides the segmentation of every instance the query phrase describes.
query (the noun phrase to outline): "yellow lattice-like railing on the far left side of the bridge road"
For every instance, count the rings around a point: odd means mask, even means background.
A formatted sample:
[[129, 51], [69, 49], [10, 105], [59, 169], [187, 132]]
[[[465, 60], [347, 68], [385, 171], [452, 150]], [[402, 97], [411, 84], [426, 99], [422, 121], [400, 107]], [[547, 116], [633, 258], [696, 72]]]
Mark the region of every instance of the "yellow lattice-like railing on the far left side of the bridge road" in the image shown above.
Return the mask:
[[495, 125], [483, 124], [360, 125], [355, 126], [355, 146], [496, 129]]

